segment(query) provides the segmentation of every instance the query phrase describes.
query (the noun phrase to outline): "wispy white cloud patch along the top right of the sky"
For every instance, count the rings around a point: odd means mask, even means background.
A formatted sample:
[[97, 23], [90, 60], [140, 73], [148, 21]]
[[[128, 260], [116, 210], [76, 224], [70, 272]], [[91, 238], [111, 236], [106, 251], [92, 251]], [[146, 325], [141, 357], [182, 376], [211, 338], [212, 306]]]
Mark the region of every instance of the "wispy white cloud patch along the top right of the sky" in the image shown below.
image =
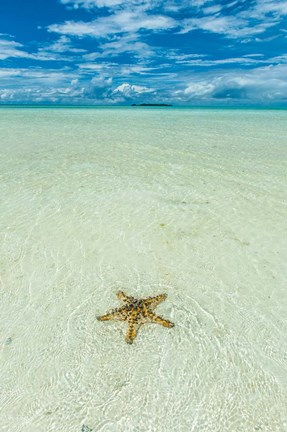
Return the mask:
[[[107, 16], [92, 21], [66, 21], [52, 24], [50, 32], [78, 37], [105, 38], [120, 33], [137, 33], [179, 29], [179, 33], [193, 30], [222, 34], [237, 39], [264, 34], [287, 14], [287, 1], [257, 0], [249, 7], [235, 0], [219, 5], [213, 0], [61, 0], [73, 7], [108, 8]], [[245, 6], [244, 8], [242, 6]], [[232, 8], [235, 8], [234, 10]], [[156, 11], [156, 13], [155, 13]], [[179, 19], [182, 11], [186, 19]], [[140, 43], [140, 41], [139, 41]]]

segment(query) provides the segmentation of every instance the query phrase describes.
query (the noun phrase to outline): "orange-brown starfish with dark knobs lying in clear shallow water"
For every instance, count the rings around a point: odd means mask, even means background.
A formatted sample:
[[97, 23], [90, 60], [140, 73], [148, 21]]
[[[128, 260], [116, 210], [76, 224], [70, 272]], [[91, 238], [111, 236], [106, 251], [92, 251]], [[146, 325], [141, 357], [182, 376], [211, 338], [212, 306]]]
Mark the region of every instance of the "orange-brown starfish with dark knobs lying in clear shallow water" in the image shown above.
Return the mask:
[[142, 324], [152, 322], [168, 328], [174, 326], [171, 321], [168, 321], [153, 312], [157, 305], [166, 299], [167, 294], [159, 294], [155, 297], [147, 297], [145, 299], [136, 299], [127, 296], [123, 291], [118, 291], [117, 297], [124, 302], [124, 306], [113, 309], [106, 315], [98, 316], [97, 319], [99, 321], [127, 321], [128, 330], [125, 338], [127, 343], [133, 343], [137, 331]]

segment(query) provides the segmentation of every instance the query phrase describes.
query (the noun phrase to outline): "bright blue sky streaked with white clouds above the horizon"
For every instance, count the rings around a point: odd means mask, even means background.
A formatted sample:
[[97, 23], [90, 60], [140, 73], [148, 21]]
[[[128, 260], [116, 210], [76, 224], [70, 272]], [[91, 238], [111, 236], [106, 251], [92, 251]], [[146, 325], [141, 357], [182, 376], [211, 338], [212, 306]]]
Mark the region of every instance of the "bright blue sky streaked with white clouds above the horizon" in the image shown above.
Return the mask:
[[0, 1], [0, 104], [131, 103], [287, 106], [287, 1]]

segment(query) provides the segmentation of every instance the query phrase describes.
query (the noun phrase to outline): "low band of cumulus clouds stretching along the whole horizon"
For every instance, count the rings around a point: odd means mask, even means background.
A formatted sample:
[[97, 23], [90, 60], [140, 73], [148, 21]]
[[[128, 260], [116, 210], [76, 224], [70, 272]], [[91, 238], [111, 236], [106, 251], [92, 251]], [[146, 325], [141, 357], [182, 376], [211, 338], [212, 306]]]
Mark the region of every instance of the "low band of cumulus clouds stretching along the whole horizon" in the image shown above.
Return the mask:
[[[0, 69], [2, 102], [48, 102], [72, 104], [130, 104], [131, 102], [170, 101], [178, 104], [234, 103], [268, 105], [274, 101], [287, 102], [287, 65], [258, 67], [253, 70], [229, 70], [220, 73], [206, 72], [177, 76], [174, 86], [172, 75], [151, 75], [149, 85], [137, 82], [120, 82], [120, 71], [114, 75], [105, 69], [95, 69], [92, 75], [74, 74], [71, 71], [43, 72], [33, 70]], [[9, 84], [15, 77], [24, 77], [25, 86], [14, 88]], [[78, 78], [77, 78], [78, 77]], [[123, 77], [122, 77], [123, 78]], [[122, 79], [121, 78], [121, 79]], [[5, 82], [7, 85], [5, 86]], [[44, 85], [43, 85], [44, 82]], [[184, 83], [188, 83], [185, 84]]]

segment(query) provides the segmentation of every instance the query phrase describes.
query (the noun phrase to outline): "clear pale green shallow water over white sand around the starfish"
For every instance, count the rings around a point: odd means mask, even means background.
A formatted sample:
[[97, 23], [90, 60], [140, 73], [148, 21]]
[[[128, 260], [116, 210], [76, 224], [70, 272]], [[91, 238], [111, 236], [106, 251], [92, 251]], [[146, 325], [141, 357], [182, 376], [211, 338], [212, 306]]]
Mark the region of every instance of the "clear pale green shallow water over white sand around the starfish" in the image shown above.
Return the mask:
[[[287, 430], [287, 111], [0, 109], [0, 431]], [[173, 329], [96, 316], [165, 292]]]

